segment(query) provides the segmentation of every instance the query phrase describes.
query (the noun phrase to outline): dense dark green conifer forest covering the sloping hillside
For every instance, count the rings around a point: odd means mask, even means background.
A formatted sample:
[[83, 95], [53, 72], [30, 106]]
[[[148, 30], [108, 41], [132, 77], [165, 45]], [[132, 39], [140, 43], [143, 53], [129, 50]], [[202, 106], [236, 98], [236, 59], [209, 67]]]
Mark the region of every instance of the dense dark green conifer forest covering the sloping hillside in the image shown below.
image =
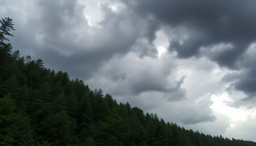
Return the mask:
[[12, 51], [12, 19], [0, 28], [0, 145], [244, 146], [253, 141], [210, 136], [164, 122], [66, 72]]

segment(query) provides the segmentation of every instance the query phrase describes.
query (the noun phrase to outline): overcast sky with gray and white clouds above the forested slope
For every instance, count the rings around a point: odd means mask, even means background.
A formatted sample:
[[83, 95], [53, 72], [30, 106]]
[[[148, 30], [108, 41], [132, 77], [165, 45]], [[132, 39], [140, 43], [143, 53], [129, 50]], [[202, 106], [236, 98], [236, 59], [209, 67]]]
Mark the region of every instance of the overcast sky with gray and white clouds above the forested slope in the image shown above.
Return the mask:
[[185, 128], [256, 141], [256, 1], [0, 3], [22, 55]]

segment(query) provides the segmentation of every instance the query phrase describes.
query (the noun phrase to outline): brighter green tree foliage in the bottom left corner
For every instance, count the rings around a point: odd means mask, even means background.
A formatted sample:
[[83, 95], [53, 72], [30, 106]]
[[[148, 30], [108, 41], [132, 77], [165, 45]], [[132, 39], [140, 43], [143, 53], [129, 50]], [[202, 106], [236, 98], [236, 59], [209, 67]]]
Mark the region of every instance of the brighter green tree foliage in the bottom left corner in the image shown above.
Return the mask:
[[0, 105], [0, 145], [34, 145], [30, 119], [15, 113], [15, 101], [10, 94], [0, 98]]

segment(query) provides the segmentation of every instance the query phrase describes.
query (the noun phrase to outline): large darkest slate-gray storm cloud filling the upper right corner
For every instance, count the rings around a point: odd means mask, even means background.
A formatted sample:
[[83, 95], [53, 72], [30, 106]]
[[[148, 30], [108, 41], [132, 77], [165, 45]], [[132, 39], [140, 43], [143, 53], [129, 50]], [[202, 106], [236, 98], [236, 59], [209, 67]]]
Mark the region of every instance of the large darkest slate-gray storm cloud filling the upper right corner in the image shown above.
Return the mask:
[[155, 19], [172, 28], [184, 28], [187, 39], [171, 41], [170, 50], [179, 57], [199, 56], [199, 49], [219, 43], [231, 43], [212, 60], [236, 68], [235, 62], [256, 39], [256, 2], [246, 1], [123, 1], [139, 15]]

